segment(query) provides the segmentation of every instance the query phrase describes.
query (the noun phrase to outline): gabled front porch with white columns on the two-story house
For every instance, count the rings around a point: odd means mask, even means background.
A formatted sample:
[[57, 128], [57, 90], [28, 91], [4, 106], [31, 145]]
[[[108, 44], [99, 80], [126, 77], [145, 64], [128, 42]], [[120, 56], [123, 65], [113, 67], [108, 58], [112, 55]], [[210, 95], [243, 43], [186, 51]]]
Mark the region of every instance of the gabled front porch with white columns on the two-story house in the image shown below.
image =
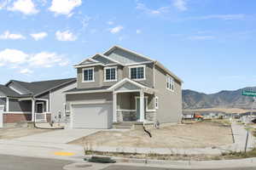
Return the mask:
[[154, 89], [126, 80], [113, 89], [113, 123], [155, 122]]

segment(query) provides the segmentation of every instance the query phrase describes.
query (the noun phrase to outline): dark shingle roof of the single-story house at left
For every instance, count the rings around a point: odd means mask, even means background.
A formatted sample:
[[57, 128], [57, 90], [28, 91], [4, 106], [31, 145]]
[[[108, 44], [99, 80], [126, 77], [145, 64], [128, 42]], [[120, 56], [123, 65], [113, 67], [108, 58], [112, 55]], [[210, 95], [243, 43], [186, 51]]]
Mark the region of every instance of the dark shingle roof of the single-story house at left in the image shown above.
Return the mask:
[[[6, 83], [5, 87], [9, 88], [8, 85], [14, 82], [15, 84], [18, 84], [19, 86], [21, 86], [22, 88], [25, 88], [31, 96], [32, 95], [38, 96], [40, 94], [44, 94], [46, 92], [49, 92], [50, 90], [59, 88], [68, 83], [76, 82], [76, 80], [77, 80], [76, 78], [67, 78], [67, 79], [58, 79], [58, 80], [49, 80], [49, 81], [40, 81], [40, 82], [20, 82], [16, 80], [11, 80], [8, 83]], [[19, 94], [19, 95], [20, 96], [17, 96], [17, 97], [23, 96], [23, 94]], [[12, 96], [12, 97], [15, 97], [15, 96]]]

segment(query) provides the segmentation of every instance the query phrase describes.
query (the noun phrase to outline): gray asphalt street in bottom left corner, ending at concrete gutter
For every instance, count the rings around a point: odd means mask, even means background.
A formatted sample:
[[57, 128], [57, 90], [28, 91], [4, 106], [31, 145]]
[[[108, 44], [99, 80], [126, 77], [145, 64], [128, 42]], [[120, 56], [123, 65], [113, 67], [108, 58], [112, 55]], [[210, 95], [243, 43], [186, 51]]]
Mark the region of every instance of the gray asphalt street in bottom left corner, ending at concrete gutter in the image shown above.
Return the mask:
[[0, 155], [1, 170], [62, 170], [73, 161]]

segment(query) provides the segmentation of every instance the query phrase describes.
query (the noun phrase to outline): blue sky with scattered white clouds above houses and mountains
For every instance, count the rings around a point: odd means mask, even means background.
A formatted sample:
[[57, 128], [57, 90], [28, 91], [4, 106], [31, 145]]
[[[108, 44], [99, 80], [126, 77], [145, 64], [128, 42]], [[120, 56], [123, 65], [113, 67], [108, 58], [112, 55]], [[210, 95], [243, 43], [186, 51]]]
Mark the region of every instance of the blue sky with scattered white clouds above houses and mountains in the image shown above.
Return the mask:
[[0, 83], [75, 77], [113, 45], [159, 60], [183, 88], [256, 86], [254, 0], [0, 0]]

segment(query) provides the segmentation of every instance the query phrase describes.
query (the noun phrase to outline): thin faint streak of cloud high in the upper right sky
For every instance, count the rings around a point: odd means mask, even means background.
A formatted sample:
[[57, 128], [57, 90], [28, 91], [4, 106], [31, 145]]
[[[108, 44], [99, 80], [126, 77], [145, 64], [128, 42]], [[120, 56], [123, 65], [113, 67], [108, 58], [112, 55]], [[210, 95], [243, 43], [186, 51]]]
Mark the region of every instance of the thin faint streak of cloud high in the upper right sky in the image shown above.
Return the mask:
[[242, 20], [245, 18], [245, 14], [212, 14], [201, 17], [195, 17], [192, 19], [196, 20], [210, 20], [210, 19], [219, 19], [219, 20]]

